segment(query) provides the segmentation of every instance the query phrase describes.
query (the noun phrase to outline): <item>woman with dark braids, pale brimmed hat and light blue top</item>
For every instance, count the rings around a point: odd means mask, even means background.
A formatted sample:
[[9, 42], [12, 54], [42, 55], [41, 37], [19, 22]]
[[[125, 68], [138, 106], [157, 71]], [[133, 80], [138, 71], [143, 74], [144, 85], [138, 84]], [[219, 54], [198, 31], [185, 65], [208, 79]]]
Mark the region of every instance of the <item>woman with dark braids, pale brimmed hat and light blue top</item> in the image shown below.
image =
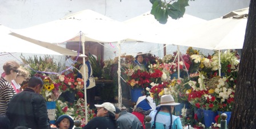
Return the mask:
[[182, 129], [181, 119], [179, 116], [172, 115], [174, 106], [180, 103], [175, 103], [172, 95], [162, 95], [161, 103], [157, 110], [151, 111], [152, 127], [160, 128], [177, 128]]

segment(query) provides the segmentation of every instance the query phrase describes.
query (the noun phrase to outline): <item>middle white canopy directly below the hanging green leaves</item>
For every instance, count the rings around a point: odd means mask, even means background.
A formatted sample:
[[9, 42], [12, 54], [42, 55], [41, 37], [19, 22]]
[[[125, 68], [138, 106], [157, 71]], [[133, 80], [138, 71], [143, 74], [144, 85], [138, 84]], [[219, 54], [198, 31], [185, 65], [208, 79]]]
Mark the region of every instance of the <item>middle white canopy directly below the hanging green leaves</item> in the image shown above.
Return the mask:
[[[172, 39], [182, 38], [183, 36], [177, 35], [176, 30], [205, 22], [206, 20], [184, 14], [183, 18], [178, 20], [169, 19], [166, 24], [160, 24], [149, 11], [135, 18], [126, 20], [124, 23], [131, 32], [127, 41], [137, 40], [151, 43], [175, 44]], [[165, 36], [166, 38], [164, 38]]]

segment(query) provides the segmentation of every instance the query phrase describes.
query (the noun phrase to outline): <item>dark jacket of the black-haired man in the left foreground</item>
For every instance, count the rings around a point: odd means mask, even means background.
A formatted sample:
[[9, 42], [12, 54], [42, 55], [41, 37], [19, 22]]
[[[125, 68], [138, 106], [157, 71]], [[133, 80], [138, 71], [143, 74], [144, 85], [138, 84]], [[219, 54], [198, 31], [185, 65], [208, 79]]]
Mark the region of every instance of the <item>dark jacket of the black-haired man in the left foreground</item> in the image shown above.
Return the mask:
[[6, 115], [10, 119], [11, 129], [17, 126], [50, 128], [45, 99], [29, 88], [11, 98]]

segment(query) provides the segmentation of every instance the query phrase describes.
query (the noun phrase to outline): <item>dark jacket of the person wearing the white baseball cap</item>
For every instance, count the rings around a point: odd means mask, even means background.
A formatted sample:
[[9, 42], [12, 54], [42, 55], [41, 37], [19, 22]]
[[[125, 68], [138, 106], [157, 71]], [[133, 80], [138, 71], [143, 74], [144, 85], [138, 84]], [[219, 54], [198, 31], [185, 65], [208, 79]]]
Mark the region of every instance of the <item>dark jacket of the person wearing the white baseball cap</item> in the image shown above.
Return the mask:
[[115, 129], [115, 123], [109, 117], [95, 117], [91, 119], [83, 129]]

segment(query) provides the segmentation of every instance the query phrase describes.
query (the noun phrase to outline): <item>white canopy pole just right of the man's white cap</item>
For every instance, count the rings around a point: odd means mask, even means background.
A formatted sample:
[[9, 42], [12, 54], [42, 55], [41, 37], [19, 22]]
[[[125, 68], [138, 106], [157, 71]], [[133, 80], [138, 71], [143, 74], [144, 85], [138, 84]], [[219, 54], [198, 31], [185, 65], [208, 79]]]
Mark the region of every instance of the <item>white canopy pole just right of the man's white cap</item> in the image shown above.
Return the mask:
[[118, 107], [122, 109], [122, 88], [121, 88], [121, 41], [117, 41], [118, 47]]

